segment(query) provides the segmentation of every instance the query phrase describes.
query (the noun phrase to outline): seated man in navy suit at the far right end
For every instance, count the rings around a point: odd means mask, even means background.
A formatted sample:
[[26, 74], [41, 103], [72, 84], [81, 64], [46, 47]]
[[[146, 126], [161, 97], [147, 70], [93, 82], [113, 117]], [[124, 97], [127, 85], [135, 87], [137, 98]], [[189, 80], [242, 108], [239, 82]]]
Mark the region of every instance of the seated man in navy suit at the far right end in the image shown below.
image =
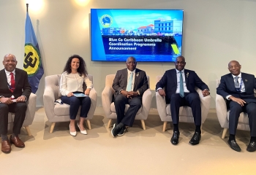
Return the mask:
[[238, 117], [241, 112], [247, 112], [249, 117], [249, 128], [251, 140], [247, 151], [255, 152], [256, 150], [256, 98], [254, 90], [256, 89], [256, 79], [252, 74], [241, 73], [241, 65], [238, 61], [228, 63], [230, 74], [225, 74], [220, 79], [217, 94], [227, 101], [227, 108], [230, 109], [229, 130], [230, 136], [227, 143], [237, 152], [241, 148], [236, 143], [236, 128]]

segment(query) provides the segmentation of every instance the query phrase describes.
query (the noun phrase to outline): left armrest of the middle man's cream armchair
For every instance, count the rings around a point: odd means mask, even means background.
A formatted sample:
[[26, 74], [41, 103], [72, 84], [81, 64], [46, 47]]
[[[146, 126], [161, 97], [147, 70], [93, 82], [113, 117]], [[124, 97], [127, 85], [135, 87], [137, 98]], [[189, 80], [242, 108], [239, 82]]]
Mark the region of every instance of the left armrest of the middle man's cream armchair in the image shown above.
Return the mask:
[[111, 114], [110, 105], [113, 98], [113, 89], [109, 86], [106, 86], [102, 91], [102, 107], [104, 109], [106, 117]]

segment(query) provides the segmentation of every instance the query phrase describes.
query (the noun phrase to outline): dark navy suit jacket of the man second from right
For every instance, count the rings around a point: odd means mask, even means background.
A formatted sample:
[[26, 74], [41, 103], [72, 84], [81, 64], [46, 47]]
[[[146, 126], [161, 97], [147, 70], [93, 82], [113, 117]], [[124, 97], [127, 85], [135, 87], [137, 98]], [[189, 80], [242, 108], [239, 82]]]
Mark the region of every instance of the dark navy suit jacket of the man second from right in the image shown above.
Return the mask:
[[[197, 76], [195, 71], [184, 69], [184, 74], [187, 90], [189, 90], [190, 93], [196, 93], [195, 87], [200, 88], [200, 90], [209, 89], [206, 83], [204, 83]], [[165, 71], [165, 74], [162, 76], [162, 79], [160, 79], [160, 81], [157, 82], [156, 90], [158, 88], [165, 88], [165, 100], [167, 103], [170, 103], [170, 97], [173, 95], [173, 93], [176, 93], [177, 90], [176, 69], [170, 69]]]

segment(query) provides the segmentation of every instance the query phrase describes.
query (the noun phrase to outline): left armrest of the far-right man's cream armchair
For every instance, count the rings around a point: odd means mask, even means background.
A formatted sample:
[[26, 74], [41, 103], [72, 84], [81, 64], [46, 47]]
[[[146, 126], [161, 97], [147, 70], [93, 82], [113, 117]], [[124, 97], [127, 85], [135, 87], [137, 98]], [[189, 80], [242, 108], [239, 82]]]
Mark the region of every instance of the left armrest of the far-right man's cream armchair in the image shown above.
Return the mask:
[[219, 120], [219, 124], [222, 128], [228, 128], [227, 121], [227, 104], [222, 96], [216, 94], [216, 112]]

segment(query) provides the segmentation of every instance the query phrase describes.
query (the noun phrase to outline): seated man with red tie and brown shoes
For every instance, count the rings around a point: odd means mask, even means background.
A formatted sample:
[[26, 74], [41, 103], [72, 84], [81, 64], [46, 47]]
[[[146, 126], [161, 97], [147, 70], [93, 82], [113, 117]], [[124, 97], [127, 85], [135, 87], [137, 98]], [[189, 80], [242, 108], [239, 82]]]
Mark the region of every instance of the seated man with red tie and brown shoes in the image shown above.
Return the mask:
[[[15, 147], [25, 147], [18, 134], [26, 116], [26, 101], [29, 100], [31, 87], [26, 71], [16, 68], [15, 55], [5, 55], [3, 65], [4, 69], [0, 71], [1, 151], [10, 153], [11, 144], [14, 144]], [[8, 112], [15, 113], [10, 139], [7, 136]]]

